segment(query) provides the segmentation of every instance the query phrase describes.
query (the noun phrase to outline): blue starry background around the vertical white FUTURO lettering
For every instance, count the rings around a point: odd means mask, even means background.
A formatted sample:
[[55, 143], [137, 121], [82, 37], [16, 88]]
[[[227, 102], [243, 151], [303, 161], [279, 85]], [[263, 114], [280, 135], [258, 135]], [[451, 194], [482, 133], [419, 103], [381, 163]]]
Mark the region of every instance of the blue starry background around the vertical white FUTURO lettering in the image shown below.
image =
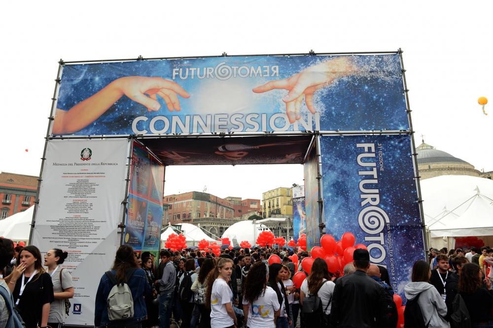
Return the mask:
[[[364, 240], [369, 234], [359, 227], [358, 215], [362, 209], [359, 182], [363, 179], [373, 179], [373, 176], [360, 176], [358, 171], [372, 167], [357, 164], [357, 156], [364, 152], [363, 148], [356, 147], [357, 143], [375, 143], [376, 158], [367, 157], [362, 161], [377, 163], [378, 184], [365, 184], [365, 188], [379, 189], [380, 204], [377, 206], [389, 217], [395, 274], [392, 275], [390, 271], [387, 244], [384, 245], [387, 257], [382, 263], [389, 269], [390, 283], [394, 291], [404, 299], [404, 286], [410, 281], [413, 263], [424, 260], [423, 230], [420, 226], [409, 135], [320, 137], [326, 232], [339, 240], [344, 232], [350, 231], [356, 237], [356, 244], [371, 243]], [[379, 143], [382, 144], [382, 148], [378, 148]], [[379, 170], [379, 150], [383, 151], [383, 172]], [[382, 232], [387, 236], [387, 228]], [[378, 258], [381, 253], [373, 249], [371, 254]]]

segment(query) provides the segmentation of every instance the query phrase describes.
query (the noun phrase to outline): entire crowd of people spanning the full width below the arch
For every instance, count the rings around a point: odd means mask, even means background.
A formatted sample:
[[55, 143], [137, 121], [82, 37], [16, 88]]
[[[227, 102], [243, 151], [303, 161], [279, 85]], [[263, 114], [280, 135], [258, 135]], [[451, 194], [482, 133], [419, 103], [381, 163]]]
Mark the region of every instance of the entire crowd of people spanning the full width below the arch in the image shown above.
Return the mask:
[[[415, 262], [404, 287], [404, 321], [387, 269], [370, 263], [365, 249], [354, 251], [343, 272], [329, 272], [320, 258], [305, 272], [301, 261], [309, 254], [298, 248], [226, 249], [218, 255], [163, 249], [155, 259], [120, 246], [98, 286], [95, 326], [453, 328], [461, 302], [467, 327], [493, 327], [488, 247], [431, 249], [428, 261]], [[33, 245], [14, 248], [0, 239], [0, 328], [17, 327], [16, 320], [27, 328], [63, 327], [74, 294], [70, 272], [61, 267], [66, 258], [59, 249], [42, 257]]]

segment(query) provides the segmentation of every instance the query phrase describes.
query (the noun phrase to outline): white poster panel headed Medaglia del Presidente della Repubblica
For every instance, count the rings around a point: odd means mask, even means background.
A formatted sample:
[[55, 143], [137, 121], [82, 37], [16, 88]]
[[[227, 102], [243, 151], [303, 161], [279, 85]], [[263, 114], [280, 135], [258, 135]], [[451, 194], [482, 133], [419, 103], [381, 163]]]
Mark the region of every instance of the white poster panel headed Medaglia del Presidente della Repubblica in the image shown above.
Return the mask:
[[31, 244], [44, 255], [69, 253], [75, 294], [68, 325], [94, 325], [99, 281], [120, 244], [126, 192], [127, 139], [50, 140]]

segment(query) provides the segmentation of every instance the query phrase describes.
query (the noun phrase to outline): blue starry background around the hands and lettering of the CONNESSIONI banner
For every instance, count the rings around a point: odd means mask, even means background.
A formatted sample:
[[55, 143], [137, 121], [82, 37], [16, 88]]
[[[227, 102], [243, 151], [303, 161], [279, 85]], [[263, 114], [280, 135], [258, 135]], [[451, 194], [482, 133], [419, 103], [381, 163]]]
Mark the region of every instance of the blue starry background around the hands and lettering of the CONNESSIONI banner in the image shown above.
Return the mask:
[[[270, 118], [275, 113], [285, 113], [285, 104], [282, 102], [282, 97], [287, 94], [287, 91], [273, 90], [263, 94], [255, 94], [251, 91], [252, 88], [270, 80], [288, 78], [303, 69], [336, 57], [217, 57], [65, 65], [57, 107], [67, 111], [75, 104], [91, 97], [120, 77], [158, 76], [171, 80], [173, 65], [176, 64], [191, 65], [189, 67], [215, 67], [219, 63], [226, 62], [230, 66], [278, 65], [280, 76], [237, 77], [224, 81], [218, 81], [215, 78], [176, 79], [175, 81], [191, 95], [188, 99], [178, 97], [182, 108], [180, 112], [169, 112], [163, 99], [158, 97], [158, 101], [162, 105], [161, 109], [149, 113], [143, 105], [123, 96], [99, 119], [74, 134], [133, 134], [132, 122], [138, 116], [146, 116], [149, 120], [159, 115], [171, 118], [171, 115], [183, 117], [184, 115], [199, 114], [205, 117], [208, 113], [204, 112], [202, 105], [208, 102], [208, 98], [206, 96], [197, 101], [199, 95], [203, 93], [201, 90], [204, 90], [208, 84], [211, 86], [210, 83], [216, 83], [214, 84], [214, 86], [217, 86], [216, 89], [224, 87], [224, 90], [228, 90], [228, 86], [234, 82], [232, 80], [236, 80], [236, 82], [241, 83], [241, 86], [244, 86], [241, 90], [245, 90], [245, 93], [247, 93], [245, 96], [247, 105], [242, 104], [239, 106], [237, 103], [232, 103], [230, 107], [226, 106], [228, 108], [227, 114], [266, 113]], [[320, 130], [408, 130], [409, 121], [403, 93], [400, 57], [397, 54], [393, 54], [351, 56], [351, 58], [359, 69], [357, 74], [338, 79], [332, 85], [324, 87], [315, 93], [314, 104], [320, 114]], [[269, 62], [269, 64], [262, 64], [264, 62]], [[242, 81], [238, 81], [239, 79]], [[221, 90], [219, 90], [220, 92]], [[225, 91], [225, 94], [227, 94], [227, 91]], [[238, 97], [232, 99], [236, 98]], [[209, 100], [211, 102], [217, 101], [216, 97], [212, 98], [212, 96]], [[305, 103], [302, 105], [301, 113], [302, 118], [306, 121], [308, 109]], [[260, 122], [260, 119], [257, 121]], [[276, 120], [278, 126], [282, 126], [282, 122], [281, 118]], [[142, 126], [138, 126], [139, 129], [145, 128], [143, 126], [145, 123], [140, 122], [139, 124], [142, 124]], [[159, 129], [160, 126], [156, 125], [156, 128]], [[229, 128], [234, 128], [234, 126], [229, 126]], [[288, 131], [293, 131], [293, 129], [294, 126], [291, 125]], [[270, 127], [266, 130], [272, 131]], [[298, 130], [304, 129], [299, 125]]]

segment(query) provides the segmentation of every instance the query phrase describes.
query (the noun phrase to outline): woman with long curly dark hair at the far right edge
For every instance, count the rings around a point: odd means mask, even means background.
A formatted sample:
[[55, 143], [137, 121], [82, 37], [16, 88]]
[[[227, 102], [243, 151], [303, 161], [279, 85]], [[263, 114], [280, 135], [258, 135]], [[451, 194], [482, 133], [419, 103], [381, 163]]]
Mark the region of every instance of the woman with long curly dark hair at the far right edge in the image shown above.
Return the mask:
[[[483, 288], [485, 283], [486, 289]], [[481, 269], [473, 263], [462, 265], [458, 292], [464, 299], [472, 327], [493, 327], [493, 292], [490, 278], [483, 280]]]

